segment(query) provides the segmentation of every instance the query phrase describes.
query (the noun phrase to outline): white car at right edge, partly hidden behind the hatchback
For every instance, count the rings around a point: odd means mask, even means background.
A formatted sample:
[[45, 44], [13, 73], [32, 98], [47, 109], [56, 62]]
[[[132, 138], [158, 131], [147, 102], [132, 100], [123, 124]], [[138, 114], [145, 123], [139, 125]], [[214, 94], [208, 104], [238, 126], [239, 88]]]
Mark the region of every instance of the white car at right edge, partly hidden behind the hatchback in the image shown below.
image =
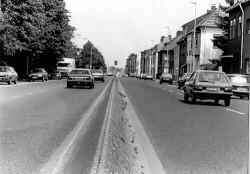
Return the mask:
[[227, 75], [233, 85], [233, 94], [240, 98], [249, 98], [249, 77], [243, 74]]

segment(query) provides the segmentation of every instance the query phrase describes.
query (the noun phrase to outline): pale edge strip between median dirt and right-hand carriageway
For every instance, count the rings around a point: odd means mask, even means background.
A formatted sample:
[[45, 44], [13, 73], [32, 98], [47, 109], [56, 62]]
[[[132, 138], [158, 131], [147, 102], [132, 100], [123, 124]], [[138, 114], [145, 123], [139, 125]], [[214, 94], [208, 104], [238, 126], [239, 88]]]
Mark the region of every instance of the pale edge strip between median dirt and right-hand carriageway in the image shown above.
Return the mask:
[[143, 155], [147, 161], [148, 166], [150, 167], [152, 174], [166, 174], [164, 168], [162, 167], [161, 161], [159, 160], [152, 143], [150, 142], [149, 137], [147, 136], [135, 110], [127, 97], [125, 89], [122, 87], [120, 81], [118, 80], [118, 87], [121, 93], [126, 96], [127, 102], [127, 111], [128, 116], [131, 119], [132, 123], [135, 125], [136, 134], [139, 139], [139, 144], [142, 148]]

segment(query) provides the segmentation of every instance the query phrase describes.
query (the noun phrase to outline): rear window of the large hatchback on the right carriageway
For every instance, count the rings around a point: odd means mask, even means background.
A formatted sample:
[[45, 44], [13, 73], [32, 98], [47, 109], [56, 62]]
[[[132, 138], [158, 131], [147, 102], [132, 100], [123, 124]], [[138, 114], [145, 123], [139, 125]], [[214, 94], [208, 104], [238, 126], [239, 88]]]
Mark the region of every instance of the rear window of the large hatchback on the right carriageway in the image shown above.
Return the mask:
[[229, 83], [226, 75], [217, 72], [202, 72], [199, 74], [199, 82]]

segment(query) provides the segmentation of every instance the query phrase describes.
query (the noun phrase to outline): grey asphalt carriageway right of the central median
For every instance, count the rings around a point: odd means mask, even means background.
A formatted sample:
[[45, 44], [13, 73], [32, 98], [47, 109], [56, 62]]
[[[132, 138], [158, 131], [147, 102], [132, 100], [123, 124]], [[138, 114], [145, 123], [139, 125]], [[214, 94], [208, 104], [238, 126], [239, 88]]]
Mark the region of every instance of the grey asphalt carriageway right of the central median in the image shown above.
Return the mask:
[[175, 85], [120, 78], [168, 174], [247, 173], [248, 101], [183, 101]]

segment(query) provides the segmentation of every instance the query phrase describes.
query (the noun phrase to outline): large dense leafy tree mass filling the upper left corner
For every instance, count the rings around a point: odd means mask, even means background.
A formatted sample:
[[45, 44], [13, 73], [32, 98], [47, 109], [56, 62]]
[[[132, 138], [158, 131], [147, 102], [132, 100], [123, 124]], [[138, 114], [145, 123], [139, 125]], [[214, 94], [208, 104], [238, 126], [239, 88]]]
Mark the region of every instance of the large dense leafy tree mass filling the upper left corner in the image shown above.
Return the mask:
[[0, 59], [24, 75], [31, 68], [47, 71], [74, 47], [74, 28], [63, 0], [2, 0]]

